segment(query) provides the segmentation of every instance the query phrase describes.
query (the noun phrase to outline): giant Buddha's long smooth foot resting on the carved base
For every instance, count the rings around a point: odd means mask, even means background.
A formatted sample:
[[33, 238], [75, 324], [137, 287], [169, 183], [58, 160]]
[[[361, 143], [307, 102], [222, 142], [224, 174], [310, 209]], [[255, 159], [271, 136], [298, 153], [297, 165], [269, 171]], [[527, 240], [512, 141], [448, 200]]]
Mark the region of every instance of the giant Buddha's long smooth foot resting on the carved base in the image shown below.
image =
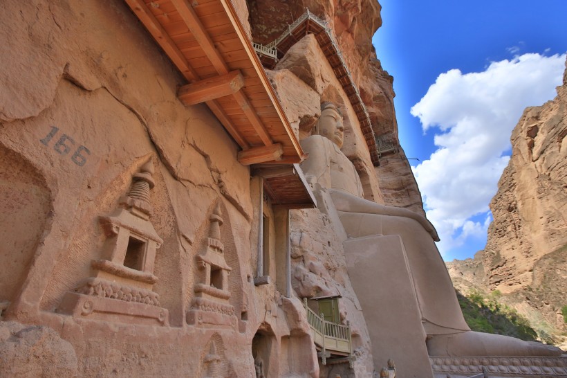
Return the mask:
[[430, 356], [549, 356], [561, 355], [561, 349], [535, 341], [482, 332], [460, 332], [431, 336], [427, 340]]

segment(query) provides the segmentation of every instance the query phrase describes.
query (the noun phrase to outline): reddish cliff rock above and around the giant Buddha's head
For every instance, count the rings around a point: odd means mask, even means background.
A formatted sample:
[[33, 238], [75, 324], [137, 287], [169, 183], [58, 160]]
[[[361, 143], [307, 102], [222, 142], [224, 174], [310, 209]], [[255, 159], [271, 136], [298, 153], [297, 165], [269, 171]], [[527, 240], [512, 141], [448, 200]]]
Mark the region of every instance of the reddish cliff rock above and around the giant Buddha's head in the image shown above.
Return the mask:
[[[398, 123], [396, 122], [396, 111], [393, 106], [393, 78], [382, 69], [380, 60], [376, 57], [375, 48], [371, 39], [376, 30], [382, 25], [380, 17], [381, 6], [373, 0], [357, 1], [283, 1], [283, 0], [248, 0], [249, 22], [252, 39], [254, 42], [268, 44], [275, 40], [288, 24], [302, 15], [306, 8], [317, 17], [325, 19], [329, 23], [333, 34], [342, 50], [348, 69], [353, 74], [355, 84], [360, 90], [360, 97], [369, 111], [373, 130], [378, 138], [396, 146], [396, 153], [387, 156], [390, 159], [380, 162], [380, 166], [373, 167], [370, 161], [361, 159], [364, 150], [364, 139], [360, 138], [352, 143], [346, 143], [343, 151], [355, 163], [362, 183], [365, 186], [365, 197], [381, 204], [409, 208], [425, 215], [421, 195], [409, 163], [405, 160], [405, 154], [398, 140]], [[313, 37], [307, 36], [306, 40], [298, 42], [277, 64], [276, 70], [287, 69], [308, 86], [317, 92], [322, 100], [337, 101], [332, 90], [326, 90], [329, 82], [334, 78], [331, 75], [321, 74], [319, 65], [325, 65], [322, 53], [317, 52]], [[330, 72], [329, 72], [330, 73]], [[277, 84], [277, 80], [276, 85]], [[338, 85], [333, 85], [339, 90]], [[286, 90], [297, 91], [298, 87], [289, 85]], [[299, 97], [294, 98], [297, 105], [312, 102], [313, 91], [305, 90], [303, 94], [297, 93]], [[279, 91], [280, 93], [282, 91]], [[339, 105], [340, 101], [339, 101]], [[294, 111], [292, 111], [293, 113]], [[293, 123], [297, 121], [299, 131], [306, 134], [310, 132], [318, 114], [317, 111], [302, 114], [288, 114]], [[347, 117], [348, 118], [348, 117]], [[353, 118], [355, 118], [353, 116]], [[348, 119], [345, 124], [348, 124]], [[301, 126], [307, 125], [301, 130]], [[301, 135], [301, 134], [300, 134]], [[352, 132], [345, 130], [345, 138], [352, 138]], [[368, 194], [367, 194], [368, 193]]]

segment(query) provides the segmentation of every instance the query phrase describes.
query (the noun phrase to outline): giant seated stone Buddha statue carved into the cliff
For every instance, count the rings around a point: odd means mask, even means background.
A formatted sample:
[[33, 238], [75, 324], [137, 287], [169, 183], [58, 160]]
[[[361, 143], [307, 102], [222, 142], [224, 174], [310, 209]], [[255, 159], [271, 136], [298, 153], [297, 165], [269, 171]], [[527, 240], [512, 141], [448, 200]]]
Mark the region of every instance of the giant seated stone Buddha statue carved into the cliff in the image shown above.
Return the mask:
[[[384, 206], [362, 198], [362, 186], [357, 172], [340, 150], [344, 132], [342, 114], [332, 103], [322, 104], [321, 118], [315, 132], [316, 135], [301, 141], [301, 146], [309, 154], [308, 159], [301, 164], [306, 179], [315, 192], [324, 191], [330, 197], [350, 240], [371, 235], [400, 236], [403, 244], [400, 251], [405, 253], [404, 259], [412, 281], [409, 285], [415, 291], [429, 355], [472, 357], [561, 354], [558, 348], [542, 343], [471, 331], [465, 323], [451, 278], [434, 243], [439, 240], [434, 226], [425, 217], [405, 208]], [[368, 285], [372, 285], [372, 282]], [[378, 285], [375, 287], [379, 288]], [[390, 310], [393, 311], [392, 316], [396, 316], [396, 311], [403, 311]]]

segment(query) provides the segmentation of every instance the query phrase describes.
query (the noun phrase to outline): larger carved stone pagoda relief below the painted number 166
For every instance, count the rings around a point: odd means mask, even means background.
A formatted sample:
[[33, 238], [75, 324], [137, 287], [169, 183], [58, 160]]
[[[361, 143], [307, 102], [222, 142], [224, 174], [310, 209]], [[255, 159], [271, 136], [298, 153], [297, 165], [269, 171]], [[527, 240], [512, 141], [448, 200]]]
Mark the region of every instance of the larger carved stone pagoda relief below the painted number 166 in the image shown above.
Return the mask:
[[153, 291], [156, 251], [163, 243], [150, 222], [151, 159], [133, 175], [127, 195], [99, 221], [106, 241], [100, 260], [92, 260], [93, 276], [64, 296], [58, 312], [73, 316], [104, 316], [104, 320], [169, 325], [167, 309]]

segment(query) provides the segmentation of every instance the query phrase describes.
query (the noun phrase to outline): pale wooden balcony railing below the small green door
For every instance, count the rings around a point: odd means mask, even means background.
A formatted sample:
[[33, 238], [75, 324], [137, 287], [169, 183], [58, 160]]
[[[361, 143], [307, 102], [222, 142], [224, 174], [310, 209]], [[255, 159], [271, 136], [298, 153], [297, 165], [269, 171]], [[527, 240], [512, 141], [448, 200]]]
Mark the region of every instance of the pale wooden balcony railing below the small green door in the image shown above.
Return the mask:
[[351, 357], [352, 340], [351, 325], [347, 321], [346, 325], [333, 323], [324, 320], [322, 316], [315, 314], [307, 305], [307, 298], [304, 298], [304, 307], [307, 311], [307, 322], [313, 331], [313, 341], [321, 348], [321, 359], [326, 365], [326, 353], [338, 352], [339, 354]]

